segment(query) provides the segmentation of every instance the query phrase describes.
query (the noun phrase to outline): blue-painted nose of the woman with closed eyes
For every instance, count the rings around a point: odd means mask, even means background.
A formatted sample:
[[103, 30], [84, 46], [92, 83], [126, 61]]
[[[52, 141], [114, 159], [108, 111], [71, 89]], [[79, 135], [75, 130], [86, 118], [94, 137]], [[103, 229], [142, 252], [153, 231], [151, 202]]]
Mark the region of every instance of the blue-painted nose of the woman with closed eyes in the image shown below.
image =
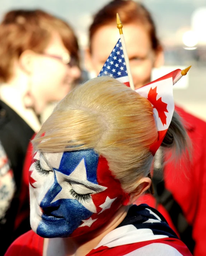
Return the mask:
[[56, 179], [56, 174], [55, 175], [55, 179], [54, 179], [54, 183], [51, 185], [50, 189], [48, 189], [48, 191], [46, 192], [44, 198], [42, 199], [41, 203], [39, 204], [39, 206], [41, 208], [47, 208], [47, 207], [55, 207], [58, 206], [58, 203], [53, 202], [51, 205], [51, 202], [53, 201], [53, 199], [55, 199], [55, 197], [57, 196], [57, 194], [61, 191], [62, 187], [60, 186], [60, 184], [58, 184], [57, 179]]

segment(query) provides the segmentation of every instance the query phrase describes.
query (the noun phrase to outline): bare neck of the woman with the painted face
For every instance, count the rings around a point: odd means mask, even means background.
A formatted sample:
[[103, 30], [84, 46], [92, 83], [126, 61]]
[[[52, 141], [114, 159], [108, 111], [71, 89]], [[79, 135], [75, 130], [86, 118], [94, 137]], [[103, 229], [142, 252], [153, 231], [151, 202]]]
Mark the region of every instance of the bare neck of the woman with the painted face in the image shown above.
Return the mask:
[[[125, 219], [130, 206], [121, 206], [109, 223], [101, 228], [90, 232], [89, 234], [81, 235], [72, 238], [51, 238], [45, 239], [44, 256], [59, 255], [59, 256], [85, 256], [109, 232], [115, 229]], [[55, 253], [54, 253], [55, 251]]]

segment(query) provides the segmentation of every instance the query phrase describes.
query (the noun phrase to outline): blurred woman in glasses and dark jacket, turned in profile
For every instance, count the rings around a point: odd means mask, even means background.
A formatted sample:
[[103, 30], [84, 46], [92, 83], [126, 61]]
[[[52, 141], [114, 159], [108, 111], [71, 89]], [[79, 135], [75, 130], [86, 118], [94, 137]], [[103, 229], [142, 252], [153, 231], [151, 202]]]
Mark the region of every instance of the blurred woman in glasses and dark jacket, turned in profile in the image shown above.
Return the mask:
[[[1, 206], [8, 209], [0, 212], [2, 255], [13, 236], [23, 162], [40, 128], [39, 116], [48, 103], [64, 98], [80, 75], [78, 42], [66, 22], [42, 10], [5, 14], [0, 24], [0, 141], [14, 182], [2, 183], [5, 174], [0, 176]], [[7, 198], [11, 183], [15, 196]], [[20, 233], [30, 227], [24, 228]]]

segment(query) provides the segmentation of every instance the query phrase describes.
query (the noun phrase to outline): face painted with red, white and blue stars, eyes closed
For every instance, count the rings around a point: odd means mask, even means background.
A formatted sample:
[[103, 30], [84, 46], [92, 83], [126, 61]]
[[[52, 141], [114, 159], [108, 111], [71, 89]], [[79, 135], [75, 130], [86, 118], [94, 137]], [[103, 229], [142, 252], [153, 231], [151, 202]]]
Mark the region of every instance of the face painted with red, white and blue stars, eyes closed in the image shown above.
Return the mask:
[[29, 170], [31, 227], [42, 237], [69, 237], [105, 224], [126, 194], [92, 149], [37, 152]]

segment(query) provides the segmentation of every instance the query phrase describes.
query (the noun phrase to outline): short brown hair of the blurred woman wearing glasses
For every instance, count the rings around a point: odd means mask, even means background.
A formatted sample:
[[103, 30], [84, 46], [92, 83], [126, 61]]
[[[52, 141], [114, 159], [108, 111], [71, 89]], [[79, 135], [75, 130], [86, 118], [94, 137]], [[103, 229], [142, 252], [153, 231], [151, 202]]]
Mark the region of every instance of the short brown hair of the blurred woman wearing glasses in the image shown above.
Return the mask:
[[12, 10], [0, 24], [0, 80], [12, 75], [12, 64], [24, 50], [43, 53], [56, 31], [72, 57], [79, 63], [78, 41], [66, 22], [42, 10]]

